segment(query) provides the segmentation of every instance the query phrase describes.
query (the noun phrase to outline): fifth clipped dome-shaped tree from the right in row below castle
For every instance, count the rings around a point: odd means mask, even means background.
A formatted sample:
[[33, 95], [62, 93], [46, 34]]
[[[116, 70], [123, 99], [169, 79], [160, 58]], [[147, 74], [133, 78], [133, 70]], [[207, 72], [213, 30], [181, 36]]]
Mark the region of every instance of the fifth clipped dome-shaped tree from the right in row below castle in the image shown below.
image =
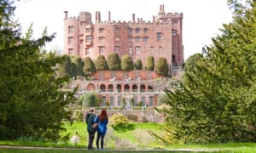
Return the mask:
[[119, 54], [108, 54], [108, 68], [109, 70], [121, 70], [121, 60]]

